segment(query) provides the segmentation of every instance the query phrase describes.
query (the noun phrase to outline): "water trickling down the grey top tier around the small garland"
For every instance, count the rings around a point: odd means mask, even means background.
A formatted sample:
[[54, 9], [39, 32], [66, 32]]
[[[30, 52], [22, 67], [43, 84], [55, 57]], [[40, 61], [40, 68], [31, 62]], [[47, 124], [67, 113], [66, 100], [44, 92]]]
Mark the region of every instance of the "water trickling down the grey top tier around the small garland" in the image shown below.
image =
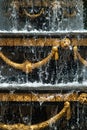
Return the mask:
[[[26, 2], [28, 5], [29, 1], [25, 1], [24, 3]], [[21, 7], [20, 3], [16, 0], [9, 0], [8, 2], [6, 0], [1, 0], [0, 30], [7, 30], [12, 32], [18, 30], [23, 32], [35, 30], [72, 31], [84, 29], [84, 7], [82, 0], [55, 0], [52, 2], [48, 2], [48, 6], [46, 6], [44, 9], [44, 14], [36, 19], [30, 19], [27, 16], [23, 15], [24, 9], [32, 14], [32, 11], [39, 12], [40, 9], [43, 8], [43, 5], [41, 5], [42, 7], [39, 7], [38, 9], [38, 7], [36, 7], [34, 4], [35, 3], [33, 3], [31, 7], [27, 7], [26, 9], [26, 4]]]

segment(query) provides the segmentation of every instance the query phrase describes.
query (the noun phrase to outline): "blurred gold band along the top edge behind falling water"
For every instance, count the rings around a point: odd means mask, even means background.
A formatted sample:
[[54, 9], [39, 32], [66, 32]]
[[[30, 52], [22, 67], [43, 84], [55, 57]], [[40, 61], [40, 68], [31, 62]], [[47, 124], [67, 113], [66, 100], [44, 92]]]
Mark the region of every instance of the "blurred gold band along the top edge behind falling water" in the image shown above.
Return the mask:
[[[13, 1], [16, 6], [18, 7], [32, 7], [32, 0], [29, 0], [29, 2], [27, 0], [14, 0]], [[57, 1], [57, 0], [43, 0], [43, 7], [52, 7], [52, 6], [56, 6], [57, 4], [59, 4], [62, 8], [65, 8], [65, 7], [75, 7], [75, 2], [73, 1], [69, 1], [69, 2], [65, 2], [64, 0], [63, 1]], [[34, 1], [34, 6], [35, 7], [41, 7], [41, 1], [40, 0], [35, 0]]]

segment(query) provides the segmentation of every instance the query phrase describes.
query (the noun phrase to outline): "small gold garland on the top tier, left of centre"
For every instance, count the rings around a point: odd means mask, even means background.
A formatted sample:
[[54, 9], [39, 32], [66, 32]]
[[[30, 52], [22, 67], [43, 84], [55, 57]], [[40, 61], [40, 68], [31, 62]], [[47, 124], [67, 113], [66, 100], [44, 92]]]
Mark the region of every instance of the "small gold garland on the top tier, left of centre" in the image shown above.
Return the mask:
[[26, 9], [24, 9], [24, 14], [25, 14], [27, 17], [31, 18], [31, 19], [35, 19], [35, 18], [40, 17], [42, 14], [44, 14], [44, 8], [42, 8], [42, 9], [40, 10], [40, 12], [37, 13], [37, 14], [30, 14], [30, 13], [27, 12]]

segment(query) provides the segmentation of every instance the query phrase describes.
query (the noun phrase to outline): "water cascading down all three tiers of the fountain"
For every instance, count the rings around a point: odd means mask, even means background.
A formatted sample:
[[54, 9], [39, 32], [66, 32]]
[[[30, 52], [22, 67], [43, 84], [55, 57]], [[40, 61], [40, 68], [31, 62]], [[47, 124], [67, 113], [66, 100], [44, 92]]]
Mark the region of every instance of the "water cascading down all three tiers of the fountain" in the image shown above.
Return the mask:
[[[35, 19], [26, 16], [23, 11], [26, 10], [31, 15], [37, 14], [43, 8], [41, 1], [39, 1], [40, 7], [35, 5], [34, 0], [32, 0], [32, 6], [30, 6], [31, 0], [25, 2], [22, 0], [23, 6], [19, 4], [20, 1], [0, 0], [0, 32], [7, 34], [39, 33], [42, 35], [50, 32], [87, 32], [84, 22], [84, 19], [86, 19], [86, 16], [84, 16], [85, 6], [82, 0], [49, 1], [44, 7], [44, 14]], [[70, 35], [68, 36], [70, 38]], [[76, 36], [76, 38], [79, 41], [79, 36]], [[34, 40], [36, 41], [36, 37]], [[45, 58], [51, 52], [51, 49], [50, 46], [0, 47], [0, 51], [17, 63], [23, 63], [26, 60], [33, 63], [38, 62]], [[86, 59], [87, 47], [80, 46], [78, 50]], [[60, 90], [66, 88], [67, 90], [68, 87], [74, 91], [75, 88], [86, 88], [86, 86], [87, 67], [79, 60], [74, 61], [72, 48], [63, 49], [60, 47], [58, 61], [51, 59], [46, 65], [34, 69], [32, 73], [28, 74], [10, 67], [0, 59], [0, 89], [11, 88], [11, 93], [14, 93], [15, 88], [21, 90], [21, 88], [42, 87], [43, 90], [48, 88], [59, 88]], [[1, 102], [0, 122], [6, 124], [23, 123], [25, 125], [40, 123], [56, 115], [63, 105], [63, 102], [54, 104], [45, 104], [44, 102], [34, 104], [32, 101], [30, 103]], [[47, 130], [86, 130], [87, 106], [72, 102], [71, 109], [72, 118], [69, 121], [66, 121], [63, 117], [57, 123], [50, 124]]]

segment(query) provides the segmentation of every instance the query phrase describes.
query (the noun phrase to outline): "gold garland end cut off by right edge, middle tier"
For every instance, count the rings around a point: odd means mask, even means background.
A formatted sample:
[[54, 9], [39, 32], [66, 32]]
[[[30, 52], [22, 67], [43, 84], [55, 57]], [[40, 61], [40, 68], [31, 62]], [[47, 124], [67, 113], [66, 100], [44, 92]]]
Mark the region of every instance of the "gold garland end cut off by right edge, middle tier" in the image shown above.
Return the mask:
[[84, 58], [81, 57], [80, 53], [78, 52], [78, 47], [77, 46], [73, 47], [73, 51], [74, 51], [74, 59], [75, 60], [79, 59], [82, 64], [87, 66], [87, 61]]

